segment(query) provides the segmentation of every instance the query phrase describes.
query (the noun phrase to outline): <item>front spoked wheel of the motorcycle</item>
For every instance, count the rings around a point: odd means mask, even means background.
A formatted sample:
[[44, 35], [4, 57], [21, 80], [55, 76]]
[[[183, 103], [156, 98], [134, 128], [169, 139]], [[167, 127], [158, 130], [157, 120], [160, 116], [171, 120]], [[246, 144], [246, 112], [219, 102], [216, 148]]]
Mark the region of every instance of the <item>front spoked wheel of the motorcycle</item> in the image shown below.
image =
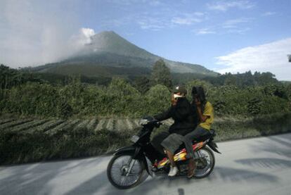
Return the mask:
[[129, 189], [142, 181], [145, 166], [129, 154], [118, 154], [108, 164], [107, 176], [118, 189]]

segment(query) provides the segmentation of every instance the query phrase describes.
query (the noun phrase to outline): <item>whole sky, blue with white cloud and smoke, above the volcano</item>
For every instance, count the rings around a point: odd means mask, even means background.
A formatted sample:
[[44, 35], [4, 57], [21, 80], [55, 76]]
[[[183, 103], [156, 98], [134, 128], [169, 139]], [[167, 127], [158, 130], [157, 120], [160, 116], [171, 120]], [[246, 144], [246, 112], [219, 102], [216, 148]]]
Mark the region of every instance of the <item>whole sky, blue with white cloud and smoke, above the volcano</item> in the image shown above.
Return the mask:
[[290, 0], [4, 0], [0, 60], [11, 67], [58, 61], [84, 43], [86, 28], [220, 73], [271, 71], [291, 80], [290, 8]]

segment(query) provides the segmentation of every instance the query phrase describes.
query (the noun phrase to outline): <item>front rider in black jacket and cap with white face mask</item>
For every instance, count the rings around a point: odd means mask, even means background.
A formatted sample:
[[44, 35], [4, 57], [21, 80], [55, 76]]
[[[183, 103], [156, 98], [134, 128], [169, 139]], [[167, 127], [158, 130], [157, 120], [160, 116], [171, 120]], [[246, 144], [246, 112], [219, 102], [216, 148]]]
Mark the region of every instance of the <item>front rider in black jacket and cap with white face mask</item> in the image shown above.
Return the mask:
[[197, 114], [186, 99], [186, 94], [187, 90], [183, 86], [176, 87], [172, 94], [171, 107], [164, 113], [154, 116], [159, 121], [168, 118], [174, 119], [174, 124], [169, 127], [168, 131], [160, 132], [151, 141], [151, 144], [161, 153], [161, 156], [164, 154], [164, 147], [161, 146], [161, 143], [169, 134], [176, 133], [184, 136], [191, 132], [198, 124]]

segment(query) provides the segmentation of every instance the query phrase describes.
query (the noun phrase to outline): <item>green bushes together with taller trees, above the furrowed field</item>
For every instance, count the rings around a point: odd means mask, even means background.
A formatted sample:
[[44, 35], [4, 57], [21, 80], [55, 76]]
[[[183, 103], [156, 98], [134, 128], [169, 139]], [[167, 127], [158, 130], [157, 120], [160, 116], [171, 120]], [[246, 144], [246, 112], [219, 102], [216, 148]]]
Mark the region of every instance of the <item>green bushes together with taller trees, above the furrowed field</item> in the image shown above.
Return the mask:
[[[69, 77], [67, 84], [51, 84], [4, 65], [0, 79], [1, 113], [60, 118], [153, 115], [169, 106], [172, 87], [169, 71], [161, 61], [155, 64], [150, 78], [137, 77], [132, 84], [119, 77], [108, 85], [82, 83], [81, 77]], [[248, 116], [291, 109], [291, 84], [278, 82], [271, 73], [228, 73], [212, 80], [190, 80], [185, 85], [189, 92], [194, 85], [205, 87], [219, 115]]]

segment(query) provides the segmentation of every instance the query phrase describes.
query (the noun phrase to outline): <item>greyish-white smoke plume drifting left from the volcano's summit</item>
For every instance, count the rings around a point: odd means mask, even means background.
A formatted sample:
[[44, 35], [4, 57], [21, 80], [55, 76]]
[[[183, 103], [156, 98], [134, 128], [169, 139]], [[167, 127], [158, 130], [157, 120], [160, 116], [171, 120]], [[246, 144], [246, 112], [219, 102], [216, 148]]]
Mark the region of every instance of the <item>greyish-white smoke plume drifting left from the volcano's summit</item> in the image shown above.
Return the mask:
[[80, 28], [65, 1], [1, 0], [0, 63], [12, 68], [63, 60], [82, 50], [95, 34]]

